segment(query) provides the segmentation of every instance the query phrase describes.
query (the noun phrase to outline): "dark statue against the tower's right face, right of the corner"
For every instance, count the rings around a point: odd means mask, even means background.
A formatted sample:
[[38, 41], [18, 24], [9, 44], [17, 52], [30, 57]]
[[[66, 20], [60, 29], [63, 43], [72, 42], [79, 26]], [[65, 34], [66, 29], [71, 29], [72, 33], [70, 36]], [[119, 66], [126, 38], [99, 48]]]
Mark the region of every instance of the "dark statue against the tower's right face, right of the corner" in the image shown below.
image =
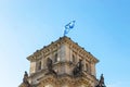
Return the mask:
[[82, 60], [79, 60], [79, 62], [74, 67], [73, 74], [74, 76], [81, 76], [82, 75]]

